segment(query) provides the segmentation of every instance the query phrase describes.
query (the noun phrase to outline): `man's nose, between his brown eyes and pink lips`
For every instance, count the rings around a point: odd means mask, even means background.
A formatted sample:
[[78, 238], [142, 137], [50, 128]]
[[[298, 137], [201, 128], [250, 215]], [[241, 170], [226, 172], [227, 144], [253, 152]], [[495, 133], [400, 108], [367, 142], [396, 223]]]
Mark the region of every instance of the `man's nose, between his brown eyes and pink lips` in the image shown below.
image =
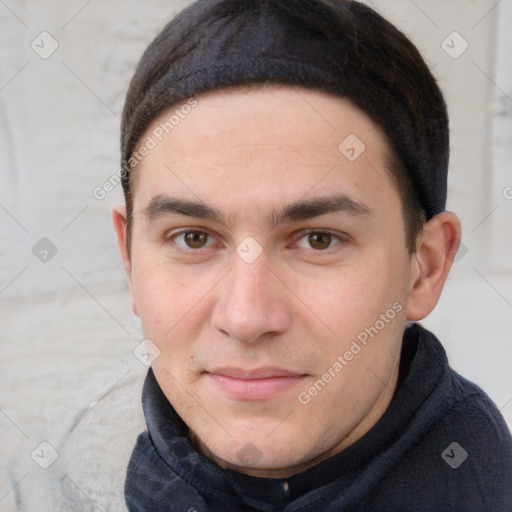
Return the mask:
[[253, 263], [235, 256], [226, 277], [212, 315], [215, 329], [240, 343], [255, 343], [290, 327], [289, 297], [264, 255]]

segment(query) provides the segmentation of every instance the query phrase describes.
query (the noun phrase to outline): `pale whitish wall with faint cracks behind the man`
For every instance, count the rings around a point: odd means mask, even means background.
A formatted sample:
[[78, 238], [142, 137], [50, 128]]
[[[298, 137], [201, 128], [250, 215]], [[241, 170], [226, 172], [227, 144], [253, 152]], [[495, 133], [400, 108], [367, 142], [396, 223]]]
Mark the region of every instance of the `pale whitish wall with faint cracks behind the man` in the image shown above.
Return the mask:
[[[124, 510], [146, 368], [109, 219], [121, 190], [92, 191], [118, 168], [141, 52], [187, 3], [0, 2], [1, 510]], [[512, 425], [512, 0], [369, 3], [424, 53], [451, 115], [464, 245], [424, 324]], [[58, 44], [46, 59], [31, 47], [51, 49], [43, 31]], [[442, 47], [454, 31], [469, 45], [458, 58]], [[57, 248], [47, 262], [32, 252], [42, 237]], [[58, 453], [46, 470], [43, 441]]]

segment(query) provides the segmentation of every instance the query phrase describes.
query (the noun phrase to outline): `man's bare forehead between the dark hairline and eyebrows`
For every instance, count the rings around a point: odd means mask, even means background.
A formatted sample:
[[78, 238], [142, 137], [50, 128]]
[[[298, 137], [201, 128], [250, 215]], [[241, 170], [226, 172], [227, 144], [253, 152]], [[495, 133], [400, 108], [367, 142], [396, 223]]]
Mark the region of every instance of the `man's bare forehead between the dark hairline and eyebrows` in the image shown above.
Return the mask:
[[251, 86], [204, 93], [184, 105], [160, 114], [141, 137], [137, 151], [151, 149], [135, 168], [134, 205], [171, 192], [236, 207], [275, 206], [333, 188], [373, 195], [372, 202], [394, 191], [385, 135], [348, 100]]

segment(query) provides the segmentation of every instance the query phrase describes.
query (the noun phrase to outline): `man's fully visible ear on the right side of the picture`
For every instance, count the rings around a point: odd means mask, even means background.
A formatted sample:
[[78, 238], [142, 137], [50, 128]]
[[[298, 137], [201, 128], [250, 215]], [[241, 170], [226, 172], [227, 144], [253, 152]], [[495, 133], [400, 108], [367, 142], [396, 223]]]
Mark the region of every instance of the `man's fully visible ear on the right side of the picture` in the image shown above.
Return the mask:
[[421, 320], [435, 307], [460, 244], [461, 227], [452, 212], [436, 215], [423, 227], [411, 259], [408, 320]]

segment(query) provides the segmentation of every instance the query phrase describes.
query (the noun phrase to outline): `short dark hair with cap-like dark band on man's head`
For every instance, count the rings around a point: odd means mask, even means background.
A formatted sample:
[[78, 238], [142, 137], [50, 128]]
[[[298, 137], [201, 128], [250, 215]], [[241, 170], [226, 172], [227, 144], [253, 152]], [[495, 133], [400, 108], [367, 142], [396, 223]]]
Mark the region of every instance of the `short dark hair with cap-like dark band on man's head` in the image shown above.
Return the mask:
[[123, 110], [128, 245], [130, 159], [150, 122], [201, 92], [263, 83], [347, 98], [381, 127], [413, 252], [423, 222], [445, 207], [446, 104], [409, 39], [350, 0], [199, 0], [164, 27], [138, 64]]

